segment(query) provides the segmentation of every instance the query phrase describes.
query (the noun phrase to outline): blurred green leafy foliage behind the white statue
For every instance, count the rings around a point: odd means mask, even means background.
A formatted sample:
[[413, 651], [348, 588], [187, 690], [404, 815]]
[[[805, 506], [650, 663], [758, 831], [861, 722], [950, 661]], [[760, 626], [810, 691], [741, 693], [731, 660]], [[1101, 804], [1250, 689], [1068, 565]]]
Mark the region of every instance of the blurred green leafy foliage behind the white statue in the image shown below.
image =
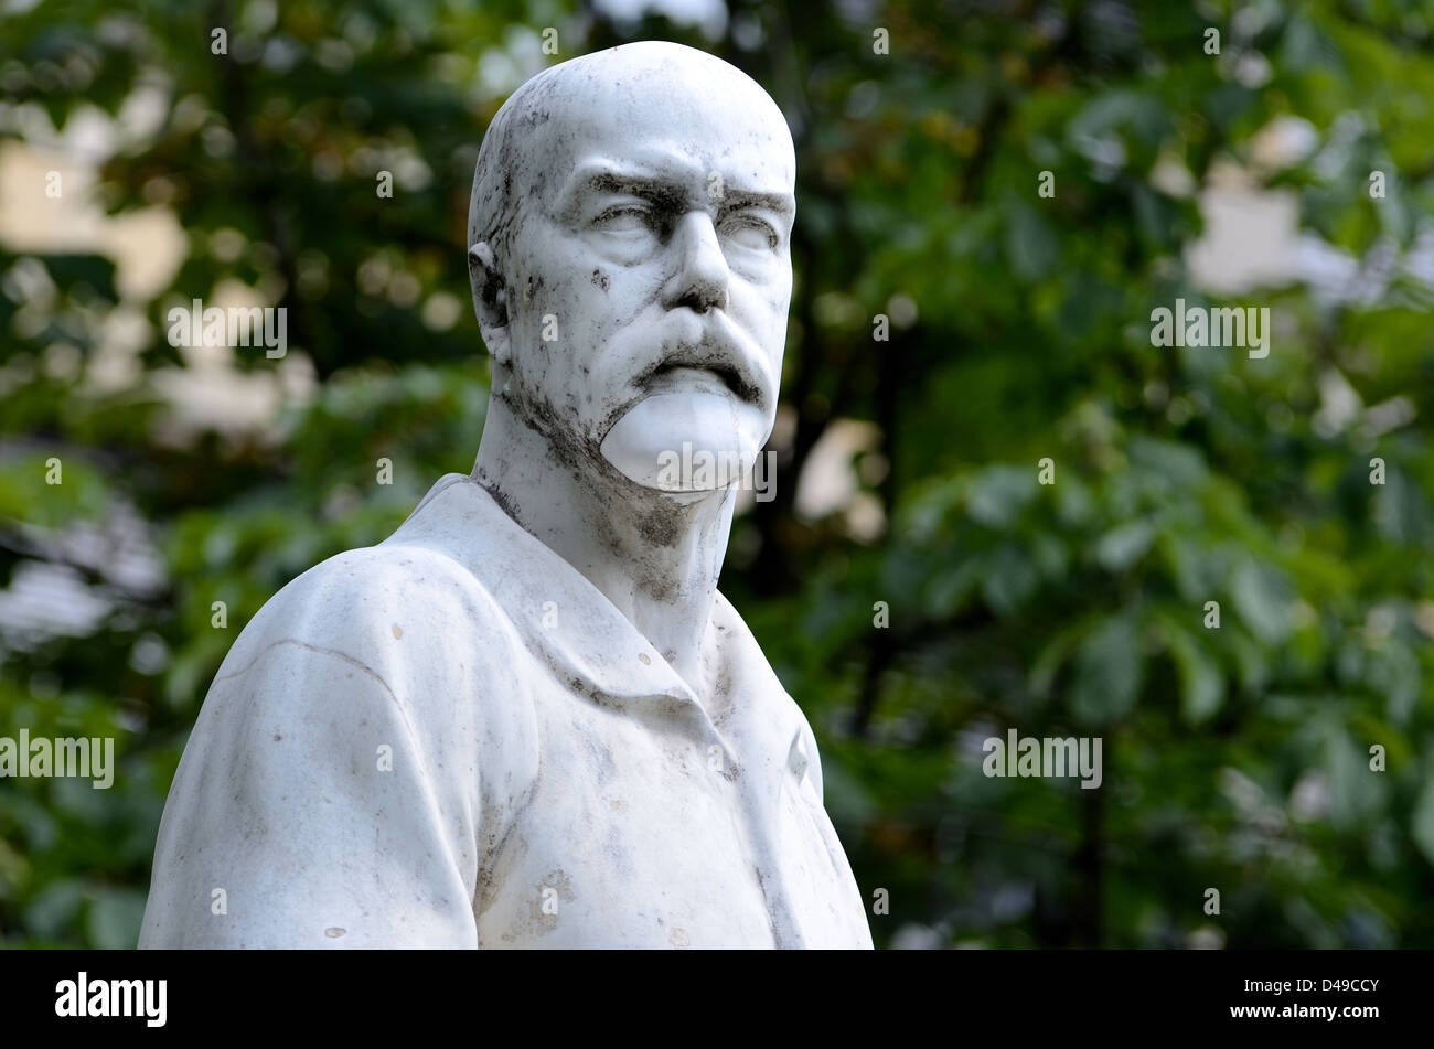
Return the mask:
[[[849, 4], [817, 7], [734, 3], [720, 39], [539, 0], [7, 14], [0, 158], [44, 145], [39, 115], [65, 129], [148, 92], [158, 119], [120, 122], [99, 199], [172, 215], [185, 251], [135, 291], [99, 248], [0, 244], [0, 583], [47, 565], [103, 598], [69, 633], [0, 638], [0, 735], [112, 735], [119, 764], [110, 791], [0, 782], [0, 944], [133, 943], [175, 764], [238, 631], [472, 466], [483, 128], [523, 73], [648, 36], [747, 69], [794, 128], [796, 424], [723, 589], [812, 717], [865, 897], [891, 890], [878, 943], [1434, 944], [1434, 298], [1392, 274], [1365, 297], [1289, 277], [1216, 301], [1192, 278], [1199, 198], [1170, 176], [1239, 165], [1359, 279], [1388, 271], [1434, 236], [1434, 13], [896, 3], [882, 56]], [[1315, 145], [1272, 165], [1281, 118]], [[6, 208], [57, 203], [34, 186]], [[222, 282], [290, 311], [294, 387], [239, 431], [185, 426], [166, 396], [196, 367], [166, 311]], [[1176, 297], [1271, 307], [1271, 355], [1153, 348], [1150, 311]], [[95, 383], [123, 317], [146, 324], [135, 375]], [[239, 350], [231, 381], [280, 371]], [[1342, 420], [1339, 383], [1358, 398]], [[852, 463], [876, 539], [797, 509], [845, 420], [880, 434]], [[109, 535], [120, 507], [151, 576], [63, 540]], [[1008, 728], [1100, 737], [1103, 787], [984, 775]]]

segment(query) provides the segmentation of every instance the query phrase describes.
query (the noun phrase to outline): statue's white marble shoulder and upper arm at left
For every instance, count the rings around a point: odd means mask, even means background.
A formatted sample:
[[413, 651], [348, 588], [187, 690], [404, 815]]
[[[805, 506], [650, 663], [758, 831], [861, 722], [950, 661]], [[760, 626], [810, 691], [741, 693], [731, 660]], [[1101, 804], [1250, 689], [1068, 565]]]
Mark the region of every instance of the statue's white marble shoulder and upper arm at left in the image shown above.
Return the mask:
[[141, 946], [476, 946], [480, 843], [536, 780], [511, 631], [432, 549], [348, 550], [277, 593], [185, 745]]

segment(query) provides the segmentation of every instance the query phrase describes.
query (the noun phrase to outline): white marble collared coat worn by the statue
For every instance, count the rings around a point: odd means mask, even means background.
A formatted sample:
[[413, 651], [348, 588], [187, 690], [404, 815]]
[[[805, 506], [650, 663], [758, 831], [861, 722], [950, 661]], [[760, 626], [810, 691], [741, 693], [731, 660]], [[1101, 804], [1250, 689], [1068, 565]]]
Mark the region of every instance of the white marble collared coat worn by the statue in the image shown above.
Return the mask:
[[720, 593], [703, 672], [449, 474], [234, 643], [139, 946], [870, 947], [812, 729]]

